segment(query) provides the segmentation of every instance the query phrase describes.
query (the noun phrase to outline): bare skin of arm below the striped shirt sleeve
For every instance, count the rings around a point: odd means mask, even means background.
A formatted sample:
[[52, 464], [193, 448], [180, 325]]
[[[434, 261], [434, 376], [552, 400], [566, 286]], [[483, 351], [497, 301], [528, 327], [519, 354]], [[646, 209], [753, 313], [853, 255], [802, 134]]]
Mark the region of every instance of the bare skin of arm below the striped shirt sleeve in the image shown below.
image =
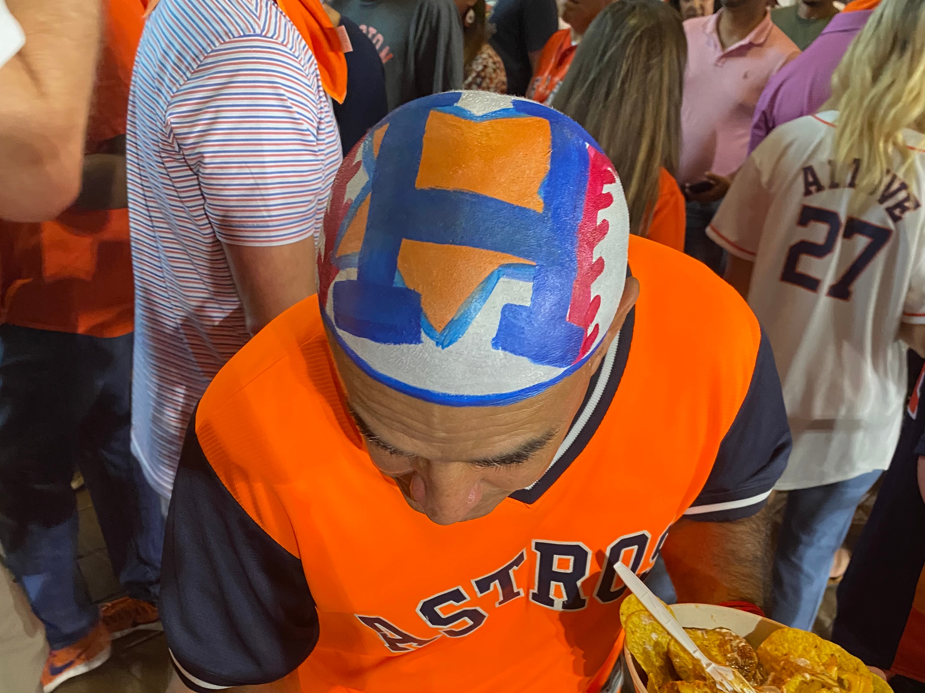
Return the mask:
[[222, 243], [251, 334], [314, 294], [314, 237], [285, 246]]

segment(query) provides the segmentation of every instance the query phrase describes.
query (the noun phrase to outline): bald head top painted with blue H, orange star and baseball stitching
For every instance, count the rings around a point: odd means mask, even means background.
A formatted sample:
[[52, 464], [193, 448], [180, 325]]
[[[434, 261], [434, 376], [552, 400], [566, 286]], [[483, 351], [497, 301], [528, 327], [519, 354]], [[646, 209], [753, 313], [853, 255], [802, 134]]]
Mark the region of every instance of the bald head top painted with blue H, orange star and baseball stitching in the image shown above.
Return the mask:
[[539, 103], [407, 103], [340, 167], [318, 243], [327, 329], [368, 375], [455, 406], [510, 404], [578, 369], [623, 293], [610, 160]]

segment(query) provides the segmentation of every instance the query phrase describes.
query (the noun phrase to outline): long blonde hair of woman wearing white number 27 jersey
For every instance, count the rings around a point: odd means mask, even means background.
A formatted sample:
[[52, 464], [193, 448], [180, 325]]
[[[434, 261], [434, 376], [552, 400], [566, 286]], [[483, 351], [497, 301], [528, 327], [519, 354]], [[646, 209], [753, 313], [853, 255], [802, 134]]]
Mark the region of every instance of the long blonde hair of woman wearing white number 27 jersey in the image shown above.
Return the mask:
[[903, 130], [925, 125], [922, 6], [922, 0], [883, 0], [832, 76], [832, 98], [823, 110], [838, 111], [835, 160], [861, 162], [857, 188], [877, 188], [894, 168], [896, 152], [902, 171], [912, 160]]

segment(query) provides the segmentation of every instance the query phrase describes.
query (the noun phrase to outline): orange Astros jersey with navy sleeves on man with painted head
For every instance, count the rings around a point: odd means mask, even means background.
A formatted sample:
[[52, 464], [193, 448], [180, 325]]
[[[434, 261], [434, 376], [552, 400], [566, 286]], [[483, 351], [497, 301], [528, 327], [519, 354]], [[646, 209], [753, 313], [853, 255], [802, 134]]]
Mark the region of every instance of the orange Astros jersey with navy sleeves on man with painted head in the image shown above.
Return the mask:
[[790, 434], [767, 341], [704, 265], [632, 237], [642, 290], [555, 461], [487, 517], [439, 526], [344, 407], [317, 298], [216, 376], [183, 449], [161, 615], [194, 690], [597, 691], [616, 561], [646, 573], [678, 518], [759, 510]]

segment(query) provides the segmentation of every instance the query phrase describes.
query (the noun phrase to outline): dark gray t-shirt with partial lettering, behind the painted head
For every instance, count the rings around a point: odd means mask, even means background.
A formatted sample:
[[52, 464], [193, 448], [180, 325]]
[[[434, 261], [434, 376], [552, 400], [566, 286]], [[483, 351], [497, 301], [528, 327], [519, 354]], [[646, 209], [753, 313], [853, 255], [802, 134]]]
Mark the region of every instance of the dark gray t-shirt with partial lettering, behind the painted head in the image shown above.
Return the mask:
[[453, 0], [331, 0], [376, 46], [388, 110], [462, 89], [462, 21]]

